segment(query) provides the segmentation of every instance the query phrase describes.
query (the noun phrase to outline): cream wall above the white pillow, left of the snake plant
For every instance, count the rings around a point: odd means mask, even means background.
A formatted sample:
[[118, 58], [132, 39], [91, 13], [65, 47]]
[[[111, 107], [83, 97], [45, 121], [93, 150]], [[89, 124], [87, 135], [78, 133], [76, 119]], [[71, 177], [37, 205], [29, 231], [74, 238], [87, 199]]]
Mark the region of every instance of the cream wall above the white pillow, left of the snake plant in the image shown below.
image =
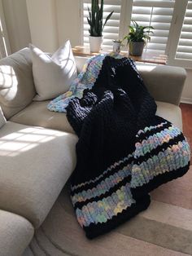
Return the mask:
[[34, 45], [55, 51], [69, 38], [80, 45], [80, 0], [26, 0], [29, 27]]

